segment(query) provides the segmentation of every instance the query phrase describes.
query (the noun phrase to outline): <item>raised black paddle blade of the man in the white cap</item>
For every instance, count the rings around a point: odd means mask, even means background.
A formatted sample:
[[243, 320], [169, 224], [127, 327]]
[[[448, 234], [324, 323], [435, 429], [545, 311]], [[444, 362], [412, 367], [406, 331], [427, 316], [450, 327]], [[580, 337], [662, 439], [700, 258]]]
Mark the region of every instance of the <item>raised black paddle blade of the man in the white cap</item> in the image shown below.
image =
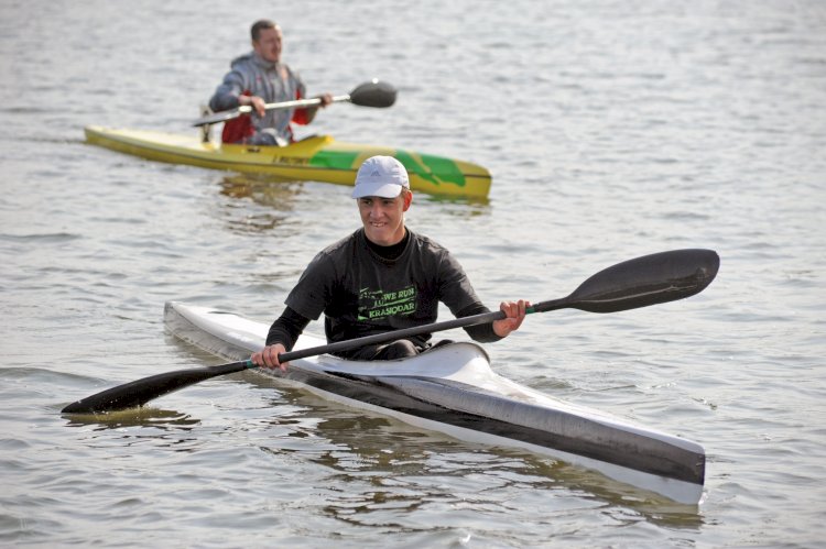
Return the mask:
[[673, 250], [644, 255], [608, 267], [579, 285], [573, 294], [534, 307], [536, 311], [574, 308], [616, 312], [703, 292], [720, 267], [713, 250]]

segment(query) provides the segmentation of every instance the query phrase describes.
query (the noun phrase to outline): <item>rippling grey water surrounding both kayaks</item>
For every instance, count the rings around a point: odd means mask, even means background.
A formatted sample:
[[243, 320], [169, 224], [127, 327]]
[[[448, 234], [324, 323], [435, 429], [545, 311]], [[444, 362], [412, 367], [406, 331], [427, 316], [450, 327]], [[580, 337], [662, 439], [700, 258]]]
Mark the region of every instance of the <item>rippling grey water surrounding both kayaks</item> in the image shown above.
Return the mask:
[[[825, 6], [0, 0], [0, 545], [819, 545]], [[61, 416], [219, 363], [164, 331], [164, 301], [269, 321], [312, 255], [358, 226], [344, 187], [83, 143], [86, 124], [191, 131], [258, 17], [282, 23], [311, 92], [400, 89], [392, 109], [334, 106], [308, 131], [492, 172], [487, 204], [417, 195], [407, 218], [490, 305], [562, 297], [645, 253], [719, 252], [694, 298], [537, 315], [488, 345], [508, 377], [703, 443], [697, 509], [254, 373], [141, 414]]]

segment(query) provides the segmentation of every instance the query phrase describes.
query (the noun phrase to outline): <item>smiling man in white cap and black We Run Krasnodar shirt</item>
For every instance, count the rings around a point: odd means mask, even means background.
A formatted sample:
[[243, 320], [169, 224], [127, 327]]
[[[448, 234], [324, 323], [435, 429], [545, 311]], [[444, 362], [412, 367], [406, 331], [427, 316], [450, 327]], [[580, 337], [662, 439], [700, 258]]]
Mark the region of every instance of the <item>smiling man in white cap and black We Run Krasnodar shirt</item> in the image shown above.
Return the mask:
[[[267, 345], [252, 355], [259, 366], [281, 367], [279, 354], [293, 348], [311, 319], [325, 315], [329, 343], [436, 321], [438, 303], [457, 318], [489, 309], [476, 296], [459, 263], [433, 240], [404, 226], [413, 201], [407, 172], [392, 156], [365, 161], [352, 189], [362, 229], [319, 252], [287, 295], [286, 308], [270, 328]], [[530, 303], [503, 301], [507, 317], [469, 326], [480, 342], [517, 330]], [[351, 360], [393, 360], [432, 347], [425, 333], [336, 353]]]

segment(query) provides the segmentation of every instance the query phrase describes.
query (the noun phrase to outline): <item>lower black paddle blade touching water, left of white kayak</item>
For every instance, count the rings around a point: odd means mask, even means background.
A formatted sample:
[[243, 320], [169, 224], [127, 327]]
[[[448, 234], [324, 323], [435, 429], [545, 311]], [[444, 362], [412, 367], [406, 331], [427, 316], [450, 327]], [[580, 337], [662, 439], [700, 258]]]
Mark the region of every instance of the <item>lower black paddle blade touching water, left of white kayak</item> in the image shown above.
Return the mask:
[[177, 370], [175, 372], [151, 375], [87, 396], [69, 404], [61, 411], [63, 414], [93, 414], [134, 408], [173, 391], [218, 375], [240, 372], [248, 367], [252, 367], [252, 362], [232, 362], [219, 366]]

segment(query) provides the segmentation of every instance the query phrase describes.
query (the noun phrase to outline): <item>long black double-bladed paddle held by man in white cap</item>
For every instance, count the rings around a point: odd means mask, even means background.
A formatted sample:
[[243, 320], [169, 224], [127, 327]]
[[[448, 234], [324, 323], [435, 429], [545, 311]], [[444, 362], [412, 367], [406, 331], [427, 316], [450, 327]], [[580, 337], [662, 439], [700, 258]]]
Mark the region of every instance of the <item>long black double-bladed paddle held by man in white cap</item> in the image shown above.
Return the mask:
[[[580, 309], [588, 312], [617, 312], [675, 301], [703, 292], [714, 281], [719, 266], [720, 259], [711, 250], [674, 250], [644, 255], [600, 271], [580, 284], [567, 297], [539, 303], [530, 307], [528, 312], [545, 312], [564, 308]], [[492, 322], [502, 318], [506, 318], [506, 314], [501, 310], [483, 312], [471, 317], [291, 351], [279, 355], [279, 360], [289, 362], [410, 336]], [[62, 411], [64, 414], [85, 414], [141, 406], [153, 398], [200, 381], [252, 367], [258, 366], [251, 360], [246, 360], [219, 366], [178, 370], [152, 375], [77, 400], [63, 408]]]

